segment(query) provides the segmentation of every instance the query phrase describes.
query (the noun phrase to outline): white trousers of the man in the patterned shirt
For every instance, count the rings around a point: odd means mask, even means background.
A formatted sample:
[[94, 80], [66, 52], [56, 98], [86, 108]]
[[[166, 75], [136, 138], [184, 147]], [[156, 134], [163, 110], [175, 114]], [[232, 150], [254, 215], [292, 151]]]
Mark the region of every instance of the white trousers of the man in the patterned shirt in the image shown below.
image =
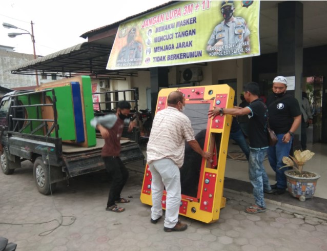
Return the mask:
[[152, 207], [153, 220], [162, 216], [161, 199], [166, 187], [166, 217], [165, 227], [173, 228], [178, 221], [180, 206], [180, 172], [178, 166], [171, 159], [155, 160], [149, 164], [152, 175]]

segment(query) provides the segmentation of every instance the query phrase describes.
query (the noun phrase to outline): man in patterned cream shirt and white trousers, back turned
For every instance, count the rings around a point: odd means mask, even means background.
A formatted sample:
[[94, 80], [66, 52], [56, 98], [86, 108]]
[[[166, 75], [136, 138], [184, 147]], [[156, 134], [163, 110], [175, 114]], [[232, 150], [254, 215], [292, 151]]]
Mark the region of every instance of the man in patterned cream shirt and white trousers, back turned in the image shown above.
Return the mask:
[[147, 145], [147, 161], [152, 174], [151, 222], [157, 223], [162, 216], [161, 199], [166, 187], [165, 232], [184, 231], [187, 224], [178, 220], [181, 200], [179, 168], [183, 165], [185, 141], [203, 158], [210, 159], [211, 153], [203, 152], [195, 140], [190, 119], [181, 111], [185, 97], [173, 91], [168, 95], [168, 107], [157, 112]]

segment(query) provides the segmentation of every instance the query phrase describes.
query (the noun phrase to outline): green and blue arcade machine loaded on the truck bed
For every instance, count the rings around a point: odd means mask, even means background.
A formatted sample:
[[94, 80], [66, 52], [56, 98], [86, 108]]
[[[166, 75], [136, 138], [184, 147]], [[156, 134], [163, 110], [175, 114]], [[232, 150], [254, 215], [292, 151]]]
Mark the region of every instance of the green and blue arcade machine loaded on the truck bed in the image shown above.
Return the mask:
[[[94, 117], [91, 79], [76, 76], [43, 83], [38, 90], [54, 89], [56, 95], [58, 134], [63, 142], [80, 147], [94, 147], [96, 135], [90, 120]], [[53, 111], [43, 109], [42, 116], [53, 117]]]

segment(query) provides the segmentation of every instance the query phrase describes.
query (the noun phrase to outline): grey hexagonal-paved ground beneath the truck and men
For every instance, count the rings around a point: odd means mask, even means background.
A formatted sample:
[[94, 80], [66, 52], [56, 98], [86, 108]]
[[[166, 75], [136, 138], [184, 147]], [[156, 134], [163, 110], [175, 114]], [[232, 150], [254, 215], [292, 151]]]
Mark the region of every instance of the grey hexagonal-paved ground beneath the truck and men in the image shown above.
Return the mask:
[[11, 176], [0, 174], [0, 236], [17, 243], [16, 250], [327, 250], [326, 219], [276, 203], [268, 203], [266, 213], [249, 215], [243, 210], [251, 196], [228, 189], [217, 222], [181, 217], [187, 231], [165, 233], [163, 220], [151, 224], [150, 206], [140, 203], [141, 162], [130, 165], [122, 195], [133, 198], [120, 214], [105, 211], [110, 184], [105, 172], [73, 178], [69, 186], [60, 183], [51, 197], [38, 193], [32, 165], [24, 166]]

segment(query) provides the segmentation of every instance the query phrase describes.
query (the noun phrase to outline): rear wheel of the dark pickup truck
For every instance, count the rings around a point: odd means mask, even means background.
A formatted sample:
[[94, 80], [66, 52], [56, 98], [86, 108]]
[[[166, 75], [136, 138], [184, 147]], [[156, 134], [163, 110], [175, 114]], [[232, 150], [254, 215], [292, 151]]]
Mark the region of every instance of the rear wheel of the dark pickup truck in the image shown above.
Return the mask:
[[56, 183], [50, 184], [50, 166], [46, 165], [42, 157], [37, 157], [34, 162], [33, 176], [38, 192], [48, 195], [55, 191]]

